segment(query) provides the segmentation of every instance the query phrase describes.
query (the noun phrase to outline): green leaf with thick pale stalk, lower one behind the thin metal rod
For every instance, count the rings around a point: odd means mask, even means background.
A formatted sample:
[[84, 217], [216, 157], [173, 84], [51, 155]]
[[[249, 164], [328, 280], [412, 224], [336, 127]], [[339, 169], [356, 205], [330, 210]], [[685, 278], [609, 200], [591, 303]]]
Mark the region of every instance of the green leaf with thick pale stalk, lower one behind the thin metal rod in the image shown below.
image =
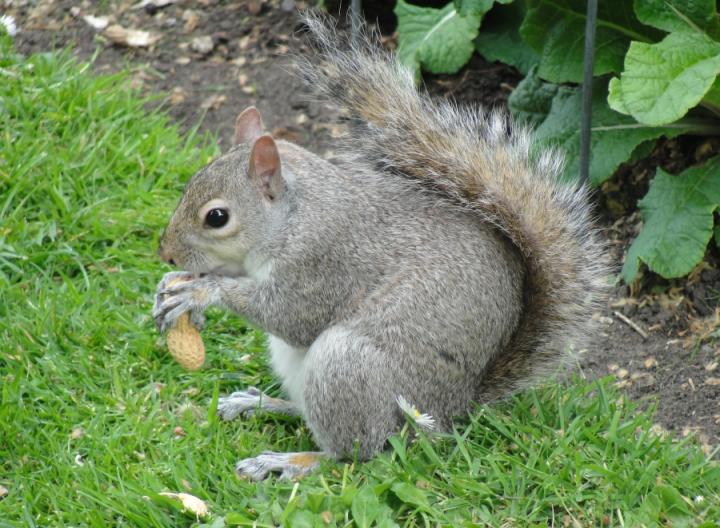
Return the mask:
[[[531, 78], [530, 78], [531, 79]], [[527, 88], [523, 86], [527, 84]], [[553, 86], [553, 85], [550, 85]], [[547, 94], [550, 87], [537, 88], [537, 81], [527, 79], [517, 90], [534, 91], [543, 94], [540, 102], [547, 105]], [[522, 96], [513, 92], [512, 99]], [[526, 98], [532, 97], [528, 93]], [[510, 108], [517, 111], [511, 99]], [[590, 183], [600, 185], [610, 178], [620, 164], [627, 161], [633, 151], [641, 143], [654, 140], [660, 136], [673, 137], [693, 130], [695, 123], [677, 123], [672, 126], [651, 127], [638, 124], [633, 118], [618, 114], [607, 105], [607, 85], [596, 80], [593, 85], [592, 129], [590, 135]], [[559, 87], [550, 101], [547, 116], [535, 131], [535, 137], [542, 146], [560, 148], [566, 156], [563, 177], [575, 180], [580, 174], [580, 116], [582, 108], [582, 92], [579, 88]], [[527, 112], [526, 109], [521, 111]], [[540, 113], [534, 114], [535, 123], [539, 122]]]

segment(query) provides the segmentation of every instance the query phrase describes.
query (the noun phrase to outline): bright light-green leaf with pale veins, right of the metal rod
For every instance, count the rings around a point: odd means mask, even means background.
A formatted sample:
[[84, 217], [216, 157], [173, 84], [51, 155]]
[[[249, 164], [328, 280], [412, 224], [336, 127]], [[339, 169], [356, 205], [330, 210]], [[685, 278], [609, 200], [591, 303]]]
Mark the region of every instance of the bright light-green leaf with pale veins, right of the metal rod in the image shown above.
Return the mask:
[[633, 42], [625, 71], [610, 81], [610, 107], [640, 123], [664, 125], [683, 117], [720, 72], [720, 43], [702, 33], [671, 33], [657, 44]]

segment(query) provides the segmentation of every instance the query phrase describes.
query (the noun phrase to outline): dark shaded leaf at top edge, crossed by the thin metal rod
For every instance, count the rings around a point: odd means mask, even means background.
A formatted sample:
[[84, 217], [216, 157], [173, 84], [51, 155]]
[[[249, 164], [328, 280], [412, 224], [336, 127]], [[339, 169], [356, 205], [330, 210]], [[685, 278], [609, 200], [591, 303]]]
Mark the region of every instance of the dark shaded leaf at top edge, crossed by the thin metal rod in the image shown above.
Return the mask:
[[[529, 0], [528, 7], [520, 34], [540, 54], [540, 77], [556, 83], [582, 81], [586, 2]], [[630, 40], [652, 40], [656, 35], [635, 18], [631, 2], [600, 2], [593, 73], [619, 72]]]

